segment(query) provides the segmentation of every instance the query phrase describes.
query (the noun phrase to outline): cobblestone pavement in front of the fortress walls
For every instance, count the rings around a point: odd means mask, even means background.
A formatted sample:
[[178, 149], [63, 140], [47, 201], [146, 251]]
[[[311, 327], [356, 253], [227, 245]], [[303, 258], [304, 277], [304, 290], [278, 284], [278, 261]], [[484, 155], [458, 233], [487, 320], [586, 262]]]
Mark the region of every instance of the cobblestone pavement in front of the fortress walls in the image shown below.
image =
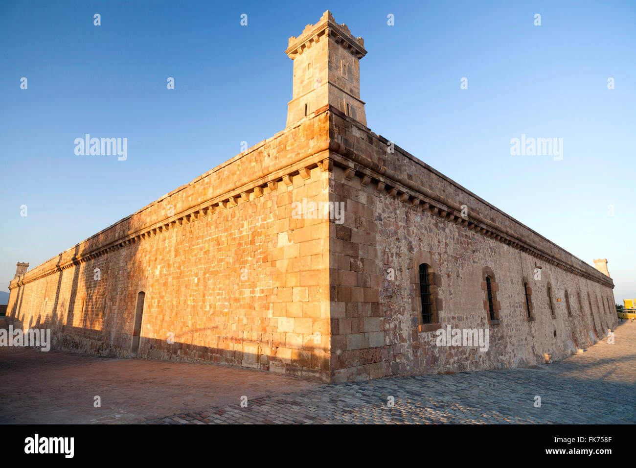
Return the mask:
[[[534, 369], [346, 385], [212, 364], [4, 348], [0, 422], [635, 423], [636, 322], [615, 331], [614, 344], [605, 339]], [[93, 395], [102, 408], [92, 408]]]

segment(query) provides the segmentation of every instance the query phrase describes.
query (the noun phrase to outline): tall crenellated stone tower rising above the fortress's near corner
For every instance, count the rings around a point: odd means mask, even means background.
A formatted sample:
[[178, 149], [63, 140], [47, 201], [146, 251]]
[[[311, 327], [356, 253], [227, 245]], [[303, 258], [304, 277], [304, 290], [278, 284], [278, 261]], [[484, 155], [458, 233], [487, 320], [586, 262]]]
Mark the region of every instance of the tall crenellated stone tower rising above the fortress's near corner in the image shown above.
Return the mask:
[[359, 60], [366, 55], [363, 38], [355, 38], [347, 25], [337, 24], [325, 11], [298, 38], [289, 38], [285, 53], [294, 60], [287, 127], [326, 104], [366, 126], [360, 100]]

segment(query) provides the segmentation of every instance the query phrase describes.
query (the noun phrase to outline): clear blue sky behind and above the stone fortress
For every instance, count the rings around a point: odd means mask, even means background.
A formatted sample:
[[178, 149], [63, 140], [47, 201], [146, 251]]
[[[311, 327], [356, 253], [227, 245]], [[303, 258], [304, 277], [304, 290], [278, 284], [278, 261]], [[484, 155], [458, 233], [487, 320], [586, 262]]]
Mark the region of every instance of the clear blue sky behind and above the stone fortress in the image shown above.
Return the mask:
[[[617, 301], [636, 297], [633, 1], [2, 0], [0, 290], [18, 260], [36, 266], [284, 129], [287, 38], [325, 10], [364, 38], [372, 131], [586, 262], [607, 257]], [[128, 159], [76, 156], [86, 133], [128, 138]], [[563, 138], [563, 160], [511, 156], [521, 134]]]

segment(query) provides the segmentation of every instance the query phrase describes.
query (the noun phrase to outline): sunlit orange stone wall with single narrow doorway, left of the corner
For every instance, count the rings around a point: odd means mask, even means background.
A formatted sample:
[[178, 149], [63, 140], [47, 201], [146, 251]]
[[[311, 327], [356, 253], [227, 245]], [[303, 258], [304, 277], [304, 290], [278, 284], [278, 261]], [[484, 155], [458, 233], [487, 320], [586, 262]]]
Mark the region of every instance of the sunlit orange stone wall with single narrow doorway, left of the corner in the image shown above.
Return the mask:
[[328, 199], [327, 125], [305, 118], [11, 281], [10, 322], [130, 356], [143, 291], [141, 357], [328, 379], [328, 220], [291, 217]]

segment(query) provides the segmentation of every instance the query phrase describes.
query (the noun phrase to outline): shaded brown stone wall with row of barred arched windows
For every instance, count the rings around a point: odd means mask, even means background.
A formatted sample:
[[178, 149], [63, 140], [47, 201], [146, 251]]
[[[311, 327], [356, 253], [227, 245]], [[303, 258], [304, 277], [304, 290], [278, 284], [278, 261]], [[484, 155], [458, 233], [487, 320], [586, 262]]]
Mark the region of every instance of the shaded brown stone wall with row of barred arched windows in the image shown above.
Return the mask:
[[[332, 223], [329, 232], [333, 381], [534, 365], [544, 353], [558, 359], [590, 346], [616, 325], [606, 276], [397, 146], [387, 153], [384, 139], [337, 111], [331, 138], [340, 145], [331, 154], [329, 197], [345, 202], [345, 222]], [[421, 192], [413, 189], [418, 186]], [[455, 200], [469, 207], [474, 225], [450, 208]], [[480, 216], [494, 223], [478, 222]], [[420, 323], [417, 267], [424, 262], [436, 273], [438, 326]], [[499, 323], [488, 320], [485, 268], [495, 278]], [[525, 308], [524, 278], [534, 321]], [[446, 325], [488, 329], [489, 350], [437, 346], [434, 330]]]

